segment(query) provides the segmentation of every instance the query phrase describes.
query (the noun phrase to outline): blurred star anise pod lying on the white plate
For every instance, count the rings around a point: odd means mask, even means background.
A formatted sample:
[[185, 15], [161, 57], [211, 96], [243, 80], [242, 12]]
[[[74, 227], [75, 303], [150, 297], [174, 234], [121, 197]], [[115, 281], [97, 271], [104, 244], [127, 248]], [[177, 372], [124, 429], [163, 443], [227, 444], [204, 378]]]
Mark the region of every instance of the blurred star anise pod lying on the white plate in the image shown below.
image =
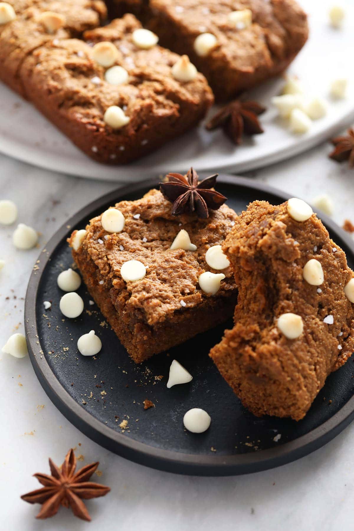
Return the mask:
[[222, 127], [232, 142], [238, 145], [242, 141], [243, 134], [263, 133], [258, 116], [264, 113], [265, 110], [265, 107], [257, 101], [231, 101], [213, 116], [210, 122], [205, 125], [205, 128], [211, 131]]

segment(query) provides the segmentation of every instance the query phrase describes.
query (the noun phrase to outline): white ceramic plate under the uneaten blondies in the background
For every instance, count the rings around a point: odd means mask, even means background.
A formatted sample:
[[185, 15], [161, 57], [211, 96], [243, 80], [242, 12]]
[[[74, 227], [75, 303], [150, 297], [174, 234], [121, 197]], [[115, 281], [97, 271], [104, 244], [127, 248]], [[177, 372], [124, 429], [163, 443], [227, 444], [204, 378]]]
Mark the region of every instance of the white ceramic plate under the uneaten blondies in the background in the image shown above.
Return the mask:
[[[206, 132], [201, 124], [133, 164], [105, 166], [90, 160], [28, 102], [0, 83], [0, 151], [57, 172], [122, 183], [171, 171], [182, 172], [192, 165], [197, 171], [240, 173], [297, 155], [354, 121], [354, 75], [350, 67], [353, 6], [348, 0], [341, 30], [330, 27], [325, 6], [321, 3], [319, 7], [318, 0], [308, 0], [310, 39], [289, 71], [303, 81], [308, 93], [324, 96], [329, 101], [328, 114], [314, 122], [305, 135], [290, 133], [272, 108], [270, 99], [279, 93], [283, 83], [278, 79], [250, 93], [268, 108], [261, 117], [265, 133], [246, 139], [243, 145], [235, 147], [221, 131]], [[329, 86], [339, 77], [349, 79], [348, 96], [333, 101], [328, 96]], [[215, 110], [211, 110], [210, 116]]]

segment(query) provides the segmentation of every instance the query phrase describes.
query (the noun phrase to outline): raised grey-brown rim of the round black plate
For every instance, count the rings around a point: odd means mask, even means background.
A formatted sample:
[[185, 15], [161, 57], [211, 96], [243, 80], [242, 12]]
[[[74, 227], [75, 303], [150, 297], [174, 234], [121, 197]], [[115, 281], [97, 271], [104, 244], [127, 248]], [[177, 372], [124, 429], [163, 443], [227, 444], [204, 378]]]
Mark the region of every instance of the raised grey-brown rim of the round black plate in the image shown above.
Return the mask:
[[[202, 173], [201, 173], [202, 174]], [[59, 227], [46, 245], [41, 249], [36, 262], [38, 269], [32, 270], [24, 305], [24, 327], [25, 337], [28, 346], [30, 360], [34, 372], [47, 393], [49, 399], [59, 409], [59, 411], [77, 429], [87, 435], [90, 439], [100, 444], [100, 446], [117, 453], [119, 456], [139, 463], [163, 470], [185, 475], [197, 476], [230, 476], [260, 472], [281, 466], [308, 453], [321, 448], [324, 444], [338, 435], [354, 418], [354, 395], [344, 404], [338, 412], [327, 419], [323, 424], [317, 426], [299, 438], [281, 443], [277, 447], [256, 452], [241, 453], [234, 456], [196, 455], [191, 453], [176, 452], [150, 446], [148, 443], [135, 441], [128, 438], [123, 433], [115, 431], [106, 426], [87, 410], [82, 408], [79, 402], [66, 391], [61, 383], [56, 379], [55, 374], [44, 355], [41, 355], [38, 328], [36, 321], [37, 293], [40, 285], [42, 273], [44, 272], [51, 254], [67, 236], [68, 228], [79, 224], [83, 218], [88, 217], [94, 210], [97, 210], [110, 200], [119, 200], [120, 196], [125, 196], [139, 190], [155, 187], [158, 178], [151, 178], [147, 181], [140, 181], [131, 185], [118, 187], [117, 189], [102, 195], [100, 198], [90, 202], [85, 207], [77, 211], [70, 219]], [[267, 184], [252, 181], [247, 177], [239, 177], [227, 174], [219, 175], [219, 183], [246, 187], [248, 189], [271, 193], [286, 201], [290, 195]], [[354, 241], [342, 228], [328, 216], [321, 213], [321, 219], [326, 227], [343, 240], [354, 256]]]

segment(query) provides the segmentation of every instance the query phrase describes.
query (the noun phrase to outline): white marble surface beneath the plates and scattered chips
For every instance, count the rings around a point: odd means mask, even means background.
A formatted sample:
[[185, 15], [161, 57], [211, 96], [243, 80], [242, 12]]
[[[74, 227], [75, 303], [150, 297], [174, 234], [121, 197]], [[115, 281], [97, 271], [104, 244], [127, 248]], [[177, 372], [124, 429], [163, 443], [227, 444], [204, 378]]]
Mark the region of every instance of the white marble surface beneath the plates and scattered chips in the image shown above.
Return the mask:
[[[354, 172], [346, 164], [327, 159], [330, 149], [329, 144], [323, 144], [250, 177], [305, 200], [329, 193], [335, 221], [339, 225], [346, 217], [354, 221]], [[1, 198], [18, 204], [19, 221], [42, 233], [41, 246], [73, 211], [116, 186], [65, 177], [5, 156], [0, 156], [0, 185]], [[0, 258], [6, 262], [0, 272], [0, 346], [16, 327], [23, 332], [23, 297], [38, 255], [37, 249], [14, 250], [13, 230], [14, 226], [0, 227]], [[102, 476], [95, 477], [111, 486], [105, 498], [87, 502], [92, 528], [278, 531], [285, 526], [289, 531], [332, 531], [348, 523], [352, 526], [354, 425], [324, 448], [290, 465], [248, 476], [185, 477], [130, 463], [82, 435], [51, 404], [28, 357], [16, 359], [0, 353], [0, 389], [1, 529], [87, 528], [89, 524], [65, 509], [54, 519], [35, 520], [39, 506], [30, 506], [19, 498], [39, 487], [31, 475], [49, 471], [47, 457], [60, 464], [71, 447], [77, 447], [76, 453], [84, 456], [83, 464], [99, 460]]]

